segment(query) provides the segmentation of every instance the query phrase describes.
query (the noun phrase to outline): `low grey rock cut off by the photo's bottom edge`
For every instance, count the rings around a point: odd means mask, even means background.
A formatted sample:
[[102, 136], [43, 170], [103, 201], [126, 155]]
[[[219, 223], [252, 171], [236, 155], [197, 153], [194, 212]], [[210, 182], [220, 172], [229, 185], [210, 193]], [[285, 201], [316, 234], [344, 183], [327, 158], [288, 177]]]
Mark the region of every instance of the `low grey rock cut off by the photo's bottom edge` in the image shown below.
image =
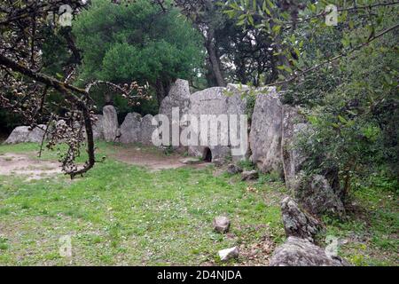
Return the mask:
[[270, 259], [270, 266], [348, 266], [339, 256], [328, 256], [325, 249], [310, 241], [289, 237]]

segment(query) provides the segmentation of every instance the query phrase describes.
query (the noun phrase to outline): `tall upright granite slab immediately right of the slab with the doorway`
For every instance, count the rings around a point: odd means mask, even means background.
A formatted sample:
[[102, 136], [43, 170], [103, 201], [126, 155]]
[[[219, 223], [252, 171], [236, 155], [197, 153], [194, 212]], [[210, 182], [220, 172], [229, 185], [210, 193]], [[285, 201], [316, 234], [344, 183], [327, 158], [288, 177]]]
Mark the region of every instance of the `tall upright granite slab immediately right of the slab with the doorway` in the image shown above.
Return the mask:
[[276, 88], [257, 94], [252, 116], [249, 143], [251, 161], [263, 173], [277, 171], [283, 175], [281, 154], [282, 103]]

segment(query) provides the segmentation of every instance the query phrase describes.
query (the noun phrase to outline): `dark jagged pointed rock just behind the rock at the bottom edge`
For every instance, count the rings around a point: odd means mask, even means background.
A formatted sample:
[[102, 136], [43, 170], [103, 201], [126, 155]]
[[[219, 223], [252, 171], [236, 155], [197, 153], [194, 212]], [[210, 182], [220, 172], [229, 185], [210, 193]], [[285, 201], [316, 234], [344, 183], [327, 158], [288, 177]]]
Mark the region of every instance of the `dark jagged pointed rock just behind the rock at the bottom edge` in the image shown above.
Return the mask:
[[292, 198], [286, 197], [281, 202], [281, 214], [287, 237], [298, 237], [315, 242], [315, 236], [322, 225], [315, 217], [300, 209]]

